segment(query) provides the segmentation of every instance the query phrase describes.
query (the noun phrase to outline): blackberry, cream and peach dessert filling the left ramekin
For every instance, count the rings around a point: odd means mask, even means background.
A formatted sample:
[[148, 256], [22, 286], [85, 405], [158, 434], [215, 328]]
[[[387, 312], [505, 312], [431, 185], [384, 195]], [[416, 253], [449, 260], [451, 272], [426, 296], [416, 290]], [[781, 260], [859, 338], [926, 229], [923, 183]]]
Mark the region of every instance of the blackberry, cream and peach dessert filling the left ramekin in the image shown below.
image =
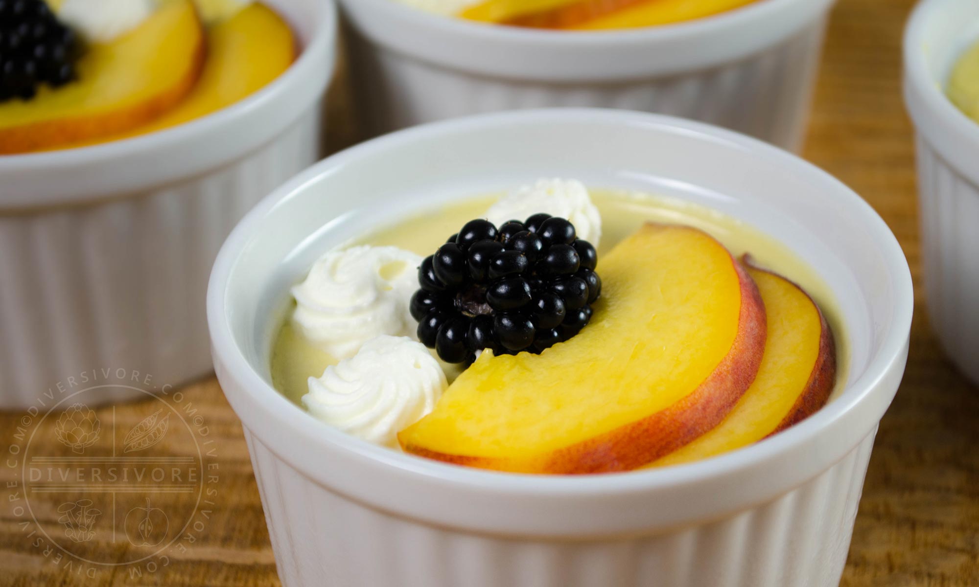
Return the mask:
[[275, 79], [297, 50], [265, 5], [212, 0], [3, 0], [0, 39], [0, 155], [216, 112]]

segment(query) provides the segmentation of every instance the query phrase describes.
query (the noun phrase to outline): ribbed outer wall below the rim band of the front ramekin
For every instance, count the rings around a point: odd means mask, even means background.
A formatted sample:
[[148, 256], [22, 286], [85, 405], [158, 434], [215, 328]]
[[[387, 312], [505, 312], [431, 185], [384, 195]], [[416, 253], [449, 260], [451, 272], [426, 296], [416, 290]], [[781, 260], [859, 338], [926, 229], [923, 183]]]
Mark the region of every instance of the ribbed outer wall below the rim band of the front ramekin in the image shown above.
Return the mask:
[[569, 541], [445, 528], [365, 508], [246, 430], [279, 576], [290, 587], [836, 586], [873, 436], [802, 487], [721, 519]]

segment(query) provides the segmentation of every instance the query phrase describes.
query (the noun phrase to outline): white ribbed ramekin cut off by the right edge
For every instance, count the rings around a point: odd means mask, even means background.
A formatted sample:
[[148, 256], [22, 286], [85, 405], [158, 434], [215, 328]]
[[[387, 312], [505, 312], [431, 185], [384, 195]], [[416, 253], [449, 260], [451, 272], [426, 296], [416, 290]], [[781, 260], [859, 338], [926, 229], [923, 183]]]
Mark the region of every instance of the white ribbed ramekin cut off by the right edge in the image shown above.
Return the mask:
[[917, 133], [924, 286], [945, 350], [979, 384], [979, 123], [943, 93], [979, 42], [979, 2], [926, 0], [905, 31], [905, 101]]

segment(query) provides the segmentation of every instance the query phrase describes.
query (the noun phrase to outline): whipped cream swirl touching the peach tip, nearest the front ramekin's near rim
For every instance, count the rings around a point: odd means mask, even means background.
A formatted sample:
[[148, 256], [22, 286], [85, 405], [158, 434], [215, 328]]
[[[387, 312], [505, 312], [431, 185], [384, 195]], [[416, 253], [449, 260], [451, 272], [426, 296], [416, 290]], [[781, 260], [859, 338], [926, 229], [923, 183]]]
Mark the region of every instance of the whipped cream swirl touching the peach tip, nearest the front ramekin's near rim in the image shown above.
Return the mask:
[[397, 432], [435, 408], [447, 383], [421, 342], [370, 339], [350, 359], [309, 378], [303, 405], [318, 420], [369, 442], [397, 446]]

